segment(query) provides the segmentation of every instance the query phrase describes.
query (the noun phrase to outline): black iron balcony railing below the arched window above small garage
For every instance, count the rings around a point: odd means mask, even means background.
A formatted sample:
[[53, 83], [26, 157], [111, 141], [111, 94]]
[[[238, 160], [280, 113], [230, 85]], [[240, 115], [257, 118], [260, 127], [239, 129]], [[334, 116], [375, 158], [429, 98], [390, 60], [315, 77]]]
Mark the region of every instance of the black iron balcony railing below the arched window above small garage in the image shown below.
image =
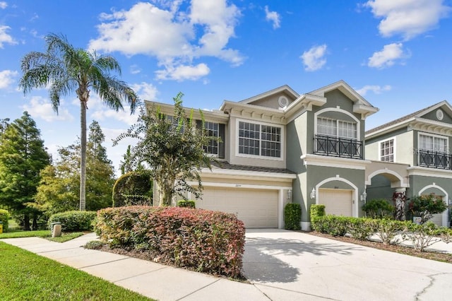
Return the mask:
[[316, 135], [314, 137], [314, 154], [362, 159], [362, 141], [335, 136]]

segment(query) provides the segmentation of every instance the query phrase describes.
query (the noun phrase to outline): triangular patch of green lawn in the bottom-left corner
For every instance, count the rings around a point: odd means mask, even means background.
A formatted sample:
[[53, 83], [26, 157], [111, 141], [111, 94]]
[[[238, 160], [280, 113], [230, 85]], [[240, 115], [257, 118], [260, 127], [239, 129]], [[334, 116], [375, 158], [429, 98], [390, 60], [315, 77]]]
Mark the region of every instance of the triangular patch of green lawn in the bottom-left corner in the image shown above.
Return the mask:
[[0, 254], [1, 300], [150, 300], [4, 242]]

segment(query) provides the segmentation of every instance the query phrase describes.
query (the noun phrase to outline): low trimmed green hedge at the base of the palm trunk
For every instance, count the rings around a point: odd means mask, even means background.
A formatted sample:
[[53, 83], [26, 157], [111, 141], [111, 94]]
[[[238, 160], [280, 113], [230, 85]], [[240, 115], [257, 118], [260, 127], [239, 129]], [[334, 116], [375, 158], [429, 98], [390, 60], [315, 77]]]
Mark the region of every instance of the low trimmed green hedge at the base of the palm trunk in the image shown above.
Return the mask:
[[63, 231], [90, 231], [96, 218], [95, 211], [66, 211], [50, 216], [47, 225], [61, 223]]

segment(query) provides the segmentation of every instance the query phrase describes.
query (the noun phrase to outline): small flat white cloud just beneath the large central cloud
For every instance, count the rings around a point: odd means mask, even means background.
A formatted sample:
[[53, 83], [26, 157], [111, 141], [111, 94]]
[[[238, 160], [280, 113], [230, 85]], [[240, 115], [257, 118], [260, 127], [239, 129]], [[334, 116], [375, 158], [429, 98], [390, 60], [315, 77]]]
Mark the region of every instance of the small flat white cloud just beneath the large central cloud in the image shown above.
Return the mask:
[[196, 81], [208, 75], [209, 72], [210, 69], [206, 64], [198, 64], [196, 66], [167, 66], [165, 70], [155, 71], [155, 75], [160, 80]]

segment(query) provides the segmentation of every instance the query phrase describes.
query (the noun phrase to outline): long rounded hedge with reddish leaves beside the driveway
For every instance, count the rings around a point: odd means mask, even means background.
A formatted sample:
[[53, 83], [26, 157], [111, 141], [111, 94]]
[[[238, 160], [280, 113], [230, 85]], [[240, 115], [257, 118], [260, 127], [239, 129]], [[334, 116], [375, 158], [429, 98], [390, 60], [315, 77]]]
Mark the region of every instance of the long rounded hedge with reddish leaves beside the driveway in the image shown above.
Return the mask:
[[237, 277], [244, 223], [236, 216], [191, 208], [130, 206], [98, 211], [96, 232], [118, 247], [148, 252], [155, 261]]

